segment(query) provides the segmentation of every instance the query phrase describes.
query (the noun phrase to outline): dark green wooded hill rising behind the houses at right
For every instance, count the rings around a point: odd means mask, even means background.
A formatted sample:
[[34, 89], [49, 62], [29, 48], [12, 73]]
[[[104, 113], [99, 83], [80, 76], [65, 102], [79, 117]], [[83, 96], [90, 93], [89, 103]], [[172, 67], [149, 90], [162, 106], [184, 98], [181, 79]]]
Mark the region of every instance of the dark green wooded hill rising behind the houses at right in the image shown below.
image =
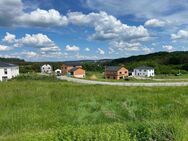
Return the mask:
[[112, 60], [108, 65], [125, 65], [129, 70], [142, 65], [152, 66], [158, 74], [177, 74], [188, 71], [188, 51], [157, 52]]

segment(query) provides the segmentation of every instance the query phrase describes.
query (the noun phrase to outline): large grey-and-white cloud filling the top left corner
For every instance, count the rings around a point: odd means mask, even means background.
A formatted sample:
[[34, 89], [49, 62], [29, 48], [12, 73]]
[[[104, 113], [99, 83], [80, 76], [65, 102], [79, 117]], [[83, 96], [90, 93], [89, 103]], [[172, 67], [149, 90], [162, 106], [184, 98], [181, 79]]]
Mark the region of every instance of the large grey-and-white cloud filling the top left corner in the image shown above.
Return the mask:
[[66, 16], [57, 10], [36, 9], [25, 12], [21, 0], [0, 1], [0, 26], [64, 26], [68, 21]]

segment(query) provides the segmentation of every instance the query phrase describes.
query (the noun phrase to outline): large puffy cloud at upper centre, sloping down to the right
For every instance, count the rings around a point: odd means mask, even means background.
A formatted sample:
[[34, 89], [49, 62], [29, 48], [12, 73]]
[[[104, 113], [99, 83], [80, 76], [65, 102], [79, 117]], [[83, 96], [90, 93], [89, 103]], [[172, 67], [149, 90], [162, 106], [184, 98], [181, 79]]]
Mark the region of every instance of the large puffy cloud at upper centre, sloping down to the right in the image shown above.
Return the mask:
[[91, 36], [95, 40], [133, 40], [149, 36], [147, 29], [143, 26], [128, 26], [106, 12], [89, 13], [80, 12], [68, 13], [68, 20], [72, 24], [90, 25], [95, 28], [95, 34]]

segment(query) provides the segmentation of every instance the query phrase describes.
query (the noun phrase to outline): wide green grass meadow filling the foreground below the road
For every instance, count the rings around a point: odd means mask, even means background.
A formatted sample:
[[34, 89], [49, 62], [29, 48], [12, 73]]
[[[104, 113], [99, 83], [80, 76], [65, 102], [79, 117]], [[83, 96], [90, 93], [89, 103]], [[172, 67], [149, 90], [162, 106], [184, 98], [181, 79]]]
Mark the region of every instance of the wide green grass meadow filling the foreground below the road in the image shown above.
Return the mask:
[[0, 83], [0, 140], [188, 140], [188, 87]]

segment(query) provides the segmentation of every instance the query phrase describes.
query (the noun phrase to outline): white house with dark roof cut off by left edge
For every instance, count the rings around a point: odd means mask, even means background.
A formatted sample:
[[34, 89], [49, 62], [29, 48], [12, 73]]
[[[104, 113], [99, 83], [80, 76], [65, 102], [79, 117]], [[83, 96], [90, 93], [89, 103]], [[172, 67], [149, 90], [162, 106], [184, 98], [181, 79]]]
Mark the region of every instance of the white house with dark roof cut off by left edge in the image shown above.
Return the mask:
[[19, 75], [19, 66], [0, 62], [0, 81], [12, 79]]

